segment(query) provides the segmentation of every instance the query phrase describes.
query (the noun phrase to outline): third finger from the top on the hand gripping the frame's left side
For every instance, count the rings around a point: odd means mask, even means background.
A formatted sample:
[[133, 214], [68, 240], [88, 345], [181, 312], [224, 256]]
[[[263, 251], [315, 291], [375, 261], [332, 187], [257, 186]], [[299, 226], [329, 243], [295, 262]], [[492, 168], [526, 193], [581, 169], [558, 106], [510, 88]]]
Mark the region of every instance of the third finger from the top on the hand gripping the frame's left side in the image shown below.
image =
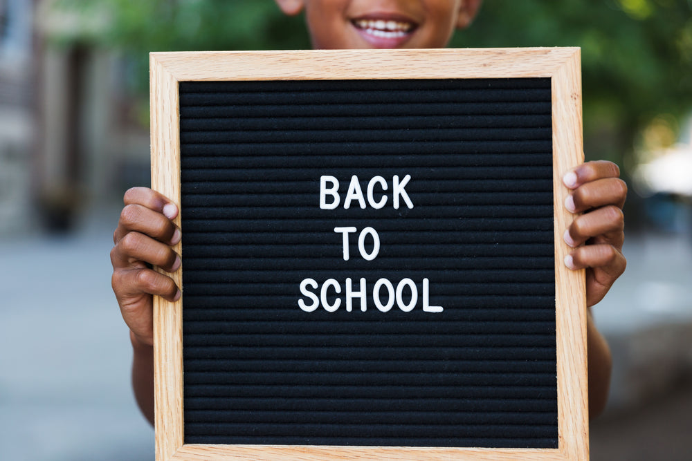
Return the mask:
[[181, 258], [168, 245], [139, 232], [129, 232], [111, 250], [111, 263], [114, 269], [148, 263], [175, 272], [181, 266]]

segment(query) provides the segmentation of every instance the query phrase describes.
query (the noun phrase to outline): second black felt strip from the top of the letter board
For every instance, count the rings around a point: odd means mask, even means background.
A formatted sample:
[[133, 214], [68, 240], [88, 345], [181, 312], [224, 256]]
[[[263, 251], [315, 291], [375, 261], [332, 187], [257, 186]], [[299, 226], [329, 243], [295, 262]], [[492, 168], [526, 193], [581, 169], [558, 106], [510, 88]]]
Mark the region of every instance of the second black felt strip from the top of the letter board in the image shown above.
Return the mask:
[[[264, 91], [237, 92], [219, 91], [217, 93], [179, 93], [181, 111], [185, 106], [251, 106], [255, 104], [353, 104], [361, 103], [367, 108], [370, 104], [388, 102], [533, 102], [551, 100], [550, 88], [468, 88], [464, 91], [454, 89], [422, 89], [420, 91], [388, 90], [385, 92], [363, 89], [353, 91]], [[367, 109], [364, 109], [367, 110]]]

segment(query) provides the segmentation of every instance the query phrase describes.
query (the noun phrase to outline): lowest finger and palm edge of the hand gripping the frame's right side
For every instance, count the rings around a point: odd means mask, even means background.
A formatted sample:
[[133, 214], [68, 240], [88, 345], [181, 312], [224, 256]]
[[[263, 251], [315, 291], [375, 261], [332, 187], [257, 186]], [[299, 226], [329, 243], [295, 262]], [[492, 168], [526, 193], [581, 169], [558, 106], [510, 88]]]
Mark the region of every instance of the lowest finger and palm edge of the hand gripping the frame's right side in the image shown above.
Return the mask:
[[572, 270], [587, 268], [587, 303], [594, 305], [605, 297], [614, 281], [625, 272], [627, 260], [612, 245], [587, 245], [565, 256], [565, 265]]

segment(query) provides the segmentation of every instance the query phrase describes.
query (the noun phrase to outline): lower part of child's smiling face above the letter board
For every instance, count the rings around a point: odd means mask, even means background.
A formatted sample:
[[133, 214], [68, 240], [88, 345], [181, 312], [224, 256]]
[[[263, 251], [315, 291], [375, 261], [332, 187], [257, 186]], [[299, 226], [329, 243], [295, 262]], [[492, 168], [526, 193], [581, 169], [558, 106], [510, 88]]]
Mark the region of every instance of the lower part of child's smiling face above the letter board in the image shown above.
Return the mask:
[[313, 48], [443, 48], [480, 0], [276, 0], [305, 10]]

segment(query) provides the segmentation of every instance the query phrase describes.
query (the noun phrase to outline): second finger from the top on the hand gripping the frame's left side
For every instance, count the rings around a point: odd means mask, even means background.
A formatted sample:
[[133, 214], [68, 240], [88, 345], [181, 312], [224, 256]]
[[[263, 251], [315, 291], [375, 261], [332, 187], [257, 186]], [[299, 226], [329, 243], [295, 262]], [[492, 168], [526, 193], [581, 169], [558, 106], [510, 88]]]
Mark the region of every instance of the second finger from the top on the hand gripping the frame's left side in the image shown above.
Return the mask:
[[116, 232], [113, 233], [113, 243], [117, 244], [133, 231], [151, 236], [168, 245], [175, 245], [181, 238], [180, 229], [163, 214], [143, 205], [125, 205], [120, 212]]

